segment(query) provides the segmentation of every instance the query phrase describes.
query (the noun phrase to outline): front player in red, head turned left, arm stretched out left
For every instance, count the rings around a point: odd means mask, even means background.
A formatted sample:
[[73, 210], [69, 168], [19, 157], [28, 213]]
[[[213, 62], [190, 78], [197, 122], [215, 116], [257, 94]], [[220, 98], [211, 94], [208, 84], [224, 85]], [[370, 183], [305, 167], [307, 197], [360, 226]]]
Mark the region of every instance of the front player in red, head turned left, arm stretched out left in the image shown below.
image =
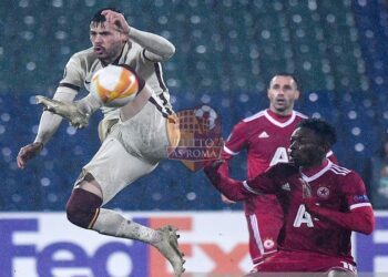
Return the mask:
[[304, 120], [292, 134], [288, 163], [244, 182], [231, 178], [223, 161], [205, 167], [212, 184], [232, 201], [277, 196], [284, 212], [279, 250], [257, 264], [257, 271], [356, 274], [350, 235], [370, 234], [375, 217], [359, 175], [326, 157], [335, 142], [328, 123]]

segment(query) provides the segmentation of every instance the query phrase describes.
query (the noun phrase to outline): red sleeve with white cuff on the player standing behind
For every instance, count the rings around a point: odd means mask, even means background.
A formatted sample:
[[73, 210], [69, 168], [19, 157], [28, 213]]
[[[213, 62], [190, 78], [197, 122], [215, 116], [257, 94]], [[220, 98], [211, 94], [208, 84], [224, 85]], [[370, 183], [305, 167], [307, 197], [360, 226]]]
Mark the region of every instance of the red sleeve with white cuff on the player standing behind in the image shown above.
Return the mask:
[[247, 130], [245, 122], [236, 124], [224, 144], [223, 157], [229, 160], [246, 146]]

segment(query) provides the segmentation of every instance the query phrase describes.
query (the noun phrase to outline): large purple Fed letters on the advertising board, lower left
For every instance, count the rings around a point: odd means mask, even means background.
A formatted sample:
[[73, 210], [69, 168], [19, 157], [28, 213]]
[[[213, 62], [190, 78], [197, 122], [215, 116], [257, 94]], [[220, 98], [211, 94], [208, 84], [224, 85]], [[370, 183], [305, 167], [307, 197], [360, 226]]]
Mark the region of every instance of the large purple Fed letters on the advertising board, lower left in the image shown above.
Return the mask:
[[[74, 242], [55, 242], [39, 249], [31, 243], [16, 244], [16, 234], [39, 233], [38, 219], [0, 219], [0, 276], [8, 277], [18, 274], [18, 268], [13, 264], [17, 258], [33, 258], [35, 260], [37, 276], [54, 276], [55, 269], [82, 269], [86, 268], [86, 276], [112, 276], [106, 263], [113, 254], [124, 254], [130, 259], [146, 260], [149, 249], [144, 244], [133, 244], [129, 246], [124, 243], [106, 243], [101, 245], [92, 255]], [[57, 258], [60, 253], [67, 253], [67, 258]], [[70, 257], [70, 258], [69, 258]], [[147, 267], [142, 263], [136, 263], [132, 268], [133, 276], [146, 276]]]

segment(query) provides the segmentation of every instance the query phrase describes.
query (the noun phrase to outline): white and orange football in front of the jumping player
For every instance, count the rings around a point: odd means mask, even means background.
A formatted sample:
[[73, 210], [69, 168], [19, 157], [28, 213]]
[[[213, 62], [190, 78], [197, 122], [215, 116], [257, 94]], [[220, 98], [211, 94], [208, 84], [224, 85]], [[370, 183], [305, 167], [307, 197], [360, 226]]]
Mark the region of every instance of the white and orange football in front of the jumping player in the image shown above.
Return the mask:
[[105, 106], [123, 106], [139, 92], [136, 75], [129, 69], [108, 65], [92, 76], [90, 93]]

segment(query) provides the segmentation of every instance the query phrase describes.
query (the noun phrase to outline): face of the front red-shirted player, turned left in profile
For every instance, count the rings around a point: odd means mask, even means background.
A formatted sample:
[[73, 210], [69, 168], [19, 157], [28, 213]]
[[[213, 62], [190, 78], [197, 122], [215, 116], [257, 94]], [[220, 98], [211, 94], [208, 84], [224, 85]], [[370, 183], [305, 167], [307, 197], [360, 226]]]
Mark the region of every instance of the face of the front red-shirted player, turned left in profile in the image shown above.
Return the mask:
[[289, 160], [298, 166], [310, 167], [321, 164], [326, 147], [310, 129], [298, 127], [290, 137]]

